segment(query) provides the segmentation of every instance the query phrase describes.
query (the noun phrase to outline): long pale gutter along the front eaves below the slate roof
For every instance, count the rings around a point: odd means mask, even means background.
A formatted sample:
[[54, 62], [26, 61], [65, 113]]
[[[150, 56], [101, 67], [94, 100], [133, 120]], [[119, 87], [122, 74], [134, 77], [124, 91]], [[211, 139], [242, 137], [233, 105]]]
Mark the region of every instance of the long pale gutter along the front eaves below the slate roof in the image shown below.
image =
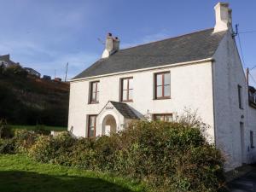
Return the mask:
[[150, 71], [150, 70], [161, 69], [161, 68], [166, 68], [166, 67], [178, 67], [178, 66], [185, 66], [185, 65], [193, 65], [193, 64], [199, 64], [201, 62], [206, 62], [206, 61], [214, 61], [214, 59], [212, 57], [209, 57], [207, 59], [202, 59], [202, 60], [179, 62], [179, 63], [176, 63], [176, 64], [168, 64], [168, 65], [158, 66], [158, 67], [148, 67], [148, 68], [135, 69], [135, 70], [125, 71], [125, 72], [96, 75], [96, 76], [91, 76], [91, 77], [87, 77], [87, 78], [71, 79], [71, 80], [68, 80], [68, 82], [75, 82], [75, 81], [81, 81], [81, 80], [87, 80], [87, 79], [103, 78], [103, 77], [125, 74], [125, 73], [137, 73], [137, 72]]

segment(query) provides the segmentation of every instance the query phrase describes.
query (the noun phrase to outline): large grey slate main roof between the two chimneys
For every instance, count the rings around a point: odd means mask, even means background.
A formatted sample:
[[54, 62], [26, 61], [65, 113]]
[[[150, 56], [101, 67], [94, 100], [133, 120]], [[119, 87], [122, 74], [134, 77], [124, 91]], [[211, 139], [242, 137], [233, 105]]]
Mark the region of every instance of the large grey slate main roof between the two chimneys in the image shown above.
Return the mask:
[[213, 28], [120, 49], [108, 58], [96, 61], [73, 79], [207, 59], [215, 53], [225, 34], [212, 32]]

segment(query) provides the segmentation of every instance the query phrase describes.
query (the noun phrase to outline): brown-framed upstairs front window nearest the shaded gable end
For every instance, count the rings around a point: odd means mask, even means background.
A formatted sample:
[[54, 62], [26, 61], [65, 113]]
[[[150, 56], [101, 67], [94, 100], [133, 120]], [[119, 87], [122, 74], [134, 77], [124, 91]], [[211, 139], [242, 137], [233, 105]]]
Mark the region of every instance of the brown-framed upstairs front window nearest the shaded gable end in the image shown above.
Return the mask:
[[156, 73], [154, 76], [155, 99], [171, 98], [171, 77], [170, 72]]

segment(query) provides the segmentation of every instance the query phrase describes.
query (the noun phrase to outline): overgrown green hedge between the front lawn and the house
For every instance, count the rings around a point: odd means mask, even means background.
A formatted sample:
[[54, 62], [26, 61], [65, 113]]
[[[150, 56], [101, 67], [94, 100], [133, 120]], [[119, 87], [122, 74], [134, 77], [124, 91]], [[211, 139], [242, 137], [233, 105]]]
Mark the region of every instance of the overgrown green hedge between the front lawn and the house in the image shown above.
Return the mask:
[[137, 121], [110, 137], [40, 136], [29, 155], [41, 162], [114, 172], [156, 191], [218, 191], [224, 158], [196, 124]]

